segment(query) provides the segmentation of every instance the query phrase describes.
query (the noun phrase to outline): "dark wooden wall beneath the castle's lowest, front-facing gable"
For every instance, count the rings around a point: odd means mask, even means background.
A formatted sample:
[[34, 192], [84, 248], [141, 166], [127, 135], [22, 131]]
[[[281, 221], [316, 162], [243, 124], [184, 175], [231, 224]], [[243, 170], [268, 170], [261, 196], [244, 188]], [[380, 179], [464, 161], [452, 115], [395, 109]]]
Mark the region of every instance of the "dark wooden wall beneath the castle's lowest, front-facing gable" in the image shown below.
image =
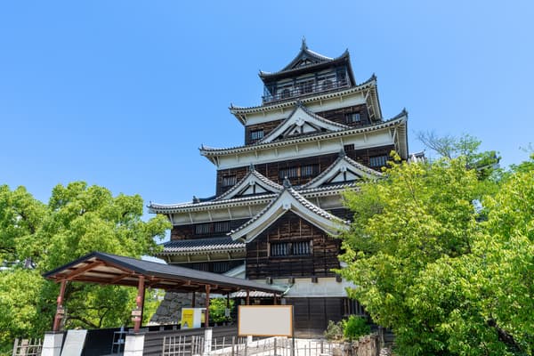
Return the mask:
[[[312, 254], [298, 256], [271, 256], [270, 244], [312, 240]], [[286, 277], [334, 277], [331, 271], [339, 268], [340, 240], [328, 237], [300, 216], [287, 212], [247, 243], [247, 279]]]

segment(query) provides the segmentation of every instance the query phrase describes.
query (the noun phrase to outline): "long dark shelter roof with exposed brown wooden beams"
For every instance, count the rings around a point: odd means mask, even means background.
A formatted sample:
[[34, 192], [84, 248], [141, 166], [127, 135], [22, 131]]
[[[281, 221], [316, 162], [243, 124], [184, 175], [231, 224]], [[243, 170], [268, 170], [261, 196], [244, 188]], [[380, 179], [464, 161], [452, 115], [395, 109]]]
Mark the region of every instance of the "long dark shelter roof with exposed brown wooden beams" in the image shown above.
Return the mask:
[[258, 290], [281, 294], [280, 287], [237, 279], [221, 274], [195, 271], [170, 264], [138, 260], [132, 257], [93, 252], [77, 260], [44, 273], [45, 279], [69, 280], [105, 285], [137, 287], [139, 278], [145, 278], [147, 287], [156, 287], [176, 292], [205, 291], [231, 293], [239, 290]]

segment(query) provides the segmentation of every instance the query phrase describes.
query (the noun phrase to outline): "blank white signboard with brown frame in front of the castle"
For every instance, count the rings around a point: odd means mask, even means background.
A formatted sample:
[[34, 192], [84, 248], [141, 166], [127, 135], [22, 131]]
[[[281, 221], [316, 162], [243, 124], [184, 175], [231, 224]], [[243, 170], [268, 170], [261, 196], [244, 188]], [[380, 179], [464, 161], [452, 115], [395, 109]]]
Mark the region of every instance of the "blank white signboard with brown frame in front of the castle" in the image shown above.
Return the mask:
[[293, 336], [293, 305], [239, 305], [239, 336]]

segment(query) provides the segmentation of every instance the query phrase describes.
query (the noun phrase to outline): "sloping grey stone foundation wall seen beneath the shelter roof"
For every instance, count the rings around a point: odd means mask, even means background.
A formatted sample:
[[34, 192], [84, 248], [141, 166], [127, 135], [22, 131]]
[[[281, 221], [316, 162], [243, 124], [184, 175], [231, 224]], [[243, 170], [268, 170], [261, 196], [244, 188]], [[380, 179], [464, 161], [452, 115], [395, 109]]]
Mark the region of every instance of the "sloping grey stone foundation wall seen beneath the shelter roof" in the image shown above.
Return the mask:
[[[182, 319], [182, 308], [192, 306], [192, 293], [166, 292], [165, 297], [158, 306], [158, 310], [150, 318], [150, 325], [177, 324]], [[206, 296], [195, 294], [196, 307], [206, 306]]]

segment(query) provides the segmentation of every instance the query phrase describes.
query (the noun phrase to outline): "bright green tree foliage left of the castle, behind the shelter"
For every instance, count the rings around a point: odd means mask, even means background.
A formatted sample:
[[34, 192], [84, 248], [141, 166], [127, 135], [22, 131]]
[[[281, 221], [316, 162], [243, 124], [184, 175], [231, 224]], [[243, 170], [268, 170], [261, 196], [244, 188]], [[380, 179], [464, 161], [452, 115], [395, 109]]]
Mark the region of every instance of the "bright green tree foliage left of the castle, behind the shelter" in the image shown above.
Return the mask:
[[[158, 250], [169, 223], [142, 221], [142, 198], [85, 182], [58, 185], [48, 204], [23, 187], [0, 186], [0, 258], [14, 266], [0, 272], [0, 342], [39, 336], [51, 328], [59, 287], [41, 277], [95, 250], [140, 258]], [[35, 269], [23, 269], [31, 261]], [[134, 288], [69, 283], [65, 327], [117, 327], [130, 322]]]

